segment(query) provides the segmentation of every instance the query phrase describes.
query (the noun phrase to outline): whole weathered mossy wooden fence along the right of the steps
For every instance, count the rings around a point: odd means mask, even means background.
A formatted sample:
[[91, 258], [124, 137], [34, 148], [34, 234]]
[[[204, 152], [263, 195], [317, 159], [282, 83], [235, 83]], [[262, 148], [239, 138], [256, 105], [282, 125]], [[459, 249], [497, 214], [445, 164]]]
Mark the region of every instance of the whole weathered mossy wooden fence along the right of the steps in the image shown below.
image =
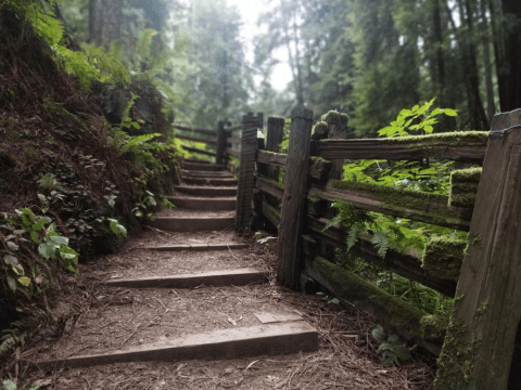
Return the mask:
[[[236, 227], [278, 231], [279, 283], [297, 289], [318, 282], [439, 354], [436, 389], [520, 388], [521, 110], [496, 115], [491, 132], [346, 140], [346, 117], [331, 113], [312, 136], [313, 113], [296, 108], [288, 154], [279, 154], [283, 126], [283, 119], [268, 118], [265, 144], [256, 139], [262, 115], [250, 114], [241, 126], [219, 122], [216, 144], [217, 164], [226, 166], [229, 155], [240, 159]], [[242, 134], [233, 135], [239, 130]], [[483, 168], [461, 174], [468, 180], [463, 183], [453, 174], [449, 196], [341, 181], [344, 159], [427, 157]], [[280, 169], [285, 171], [283, 184]], [[333, 249], [347, 249], [345, 229], [325, 230], [334, 217], [331, 203], [338, 199], [469, 232], [468, 243], [429, 243], [425, 252], [434, 253], [432, 258], [395, 249], [381, 258], [364, 238], [350, 249], [367, 262], [455, 297], [449, 324], [334, 263]]]

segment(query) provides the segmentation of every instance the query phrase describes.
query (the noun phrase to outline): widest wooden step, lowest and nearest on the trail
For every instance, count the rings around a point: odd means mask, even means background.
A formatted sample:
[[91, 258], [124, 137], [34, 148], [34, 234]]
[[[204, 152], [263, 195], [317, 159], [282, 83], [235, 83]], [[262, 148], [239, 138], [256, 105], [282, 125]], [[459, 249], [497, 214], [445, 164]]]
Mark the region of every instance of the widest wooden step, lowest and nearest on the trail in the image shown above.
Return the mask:
[[86, 367], [147, 361], [230, 360], [318, 350], [318, 333], [304, 321], [219, 329], [117, 350], [68, 359], [40, 361], [41, 368]]

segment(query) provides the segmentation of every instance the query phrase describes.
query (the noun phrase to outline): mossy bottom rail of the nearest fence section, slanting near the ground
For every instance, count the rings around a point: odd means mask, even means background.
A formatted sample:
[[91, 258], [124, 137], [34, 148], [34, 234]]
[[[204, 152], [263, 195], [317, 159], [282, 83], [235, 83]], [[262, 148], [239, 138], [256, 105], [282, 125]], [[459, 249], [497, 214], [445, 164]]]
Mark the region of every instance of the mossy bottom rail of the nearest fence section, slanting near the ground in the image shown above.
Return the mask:
[[443, 321], [322, 258], [316, 257], [313, 262], [307, 262], [306, 273], [340, 299], [372, 314], [378, 323], [435, 354], [440, 353], [445, 334]]

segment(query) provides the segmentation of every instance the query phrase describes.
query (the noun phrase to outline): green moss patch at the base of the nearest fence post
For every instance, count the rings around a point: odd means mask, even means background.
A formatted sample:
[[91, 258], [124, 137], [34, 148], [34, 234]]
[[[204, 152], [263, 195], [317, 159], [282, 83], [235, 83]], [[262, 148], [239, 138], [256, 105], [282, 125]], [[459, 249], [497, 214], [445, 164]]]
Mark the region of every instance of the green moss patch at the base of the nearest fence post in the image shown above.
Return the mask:
[[481, 347], [481, 338], [469, 333], [463, 320], [453, 316], [437, 360], [435, 389], [469, 389], [475, 356]]

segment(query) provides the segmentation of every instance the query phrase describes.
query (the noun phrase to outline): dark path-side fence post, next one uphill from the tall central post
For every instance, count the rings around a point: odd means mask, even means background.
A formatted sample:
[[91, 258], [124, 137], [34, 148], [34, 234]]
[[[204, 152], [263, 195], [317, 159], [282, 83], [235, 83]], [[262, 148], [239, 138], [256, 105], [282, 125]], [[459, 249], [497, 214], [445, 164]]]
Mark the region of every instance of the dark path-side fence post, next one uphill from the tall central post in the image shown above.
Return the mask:
[[241, 165], [237, 187], [236, 230], [250, 231], [253, 187], [255, 184], [255, 157], [257, 153], [258, 118], [249, 113], [242, 118]]

